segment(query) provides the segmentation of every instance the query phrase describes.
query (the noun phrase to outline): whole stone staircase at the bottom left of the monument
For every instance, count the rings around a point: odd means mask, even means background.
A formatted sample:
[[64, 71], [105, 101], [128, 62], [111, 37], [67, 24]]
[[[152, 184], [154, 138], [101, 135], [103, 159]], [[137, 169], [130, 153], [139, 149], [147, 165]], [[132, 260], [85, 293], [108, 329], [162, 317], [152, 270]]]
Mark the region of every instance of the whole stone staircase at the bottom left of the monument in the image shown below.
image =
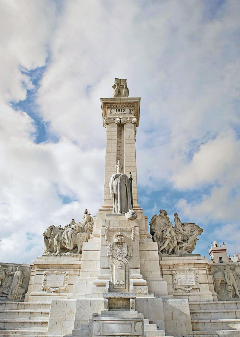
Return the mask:
[[0, 337], [45, 336], [50, 303], [0, 302]]

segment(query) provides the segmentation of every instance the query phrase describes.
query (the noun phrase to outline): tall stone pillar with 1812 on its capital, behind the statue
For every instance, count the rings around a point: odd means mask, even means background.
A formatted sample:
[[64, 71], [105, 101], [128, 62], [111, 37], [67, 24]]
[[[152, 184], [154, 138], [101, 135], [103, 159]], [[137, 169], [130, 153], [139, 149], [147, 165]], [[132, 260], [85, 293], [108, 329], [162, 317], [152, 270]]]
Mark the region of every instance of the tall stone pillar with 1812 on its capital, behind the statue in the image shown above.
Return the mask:
[[137, 168], [135, 136], [139, 125], [140, 98], [101, 98], [103, 126], [106, 132], [106, 159], [103, 205], [100, 212], [111, 213], [109, 181], [116, 173], [115, 165], [120, 160], [122, 173], [132, 173], [133, 209], [139, 210], [137, 195]]

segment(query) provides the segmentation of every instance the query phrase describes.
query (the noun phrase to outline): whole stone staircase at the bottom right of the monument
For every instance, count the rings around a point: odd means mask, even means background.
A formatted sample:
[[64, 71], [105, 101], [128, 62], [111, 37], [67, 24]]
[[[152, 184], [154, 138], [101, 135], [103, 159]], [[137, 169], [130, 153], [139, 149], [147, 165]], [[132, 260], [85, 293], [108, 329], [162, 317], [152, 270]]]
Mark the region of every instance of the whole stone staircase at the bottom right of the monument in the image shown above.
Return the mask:
[[193, 336], [240, 337], [240, 301], [190, 302]]

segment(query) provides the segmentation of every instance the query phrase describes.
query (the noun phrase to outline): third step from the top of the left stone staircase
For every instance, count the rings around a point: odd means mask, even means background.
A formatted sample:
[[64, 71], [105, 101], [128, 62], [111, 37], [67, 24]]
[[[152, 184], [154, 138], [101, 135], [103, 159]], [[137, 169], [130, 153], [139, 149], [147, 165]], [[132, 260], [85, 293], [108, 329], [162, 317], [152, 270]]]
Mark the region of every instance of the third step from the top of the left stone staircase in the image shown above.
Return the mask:
[[46, 318], [0, 319], [0, 330], [18, 330], [19, 328], [47, 328]]

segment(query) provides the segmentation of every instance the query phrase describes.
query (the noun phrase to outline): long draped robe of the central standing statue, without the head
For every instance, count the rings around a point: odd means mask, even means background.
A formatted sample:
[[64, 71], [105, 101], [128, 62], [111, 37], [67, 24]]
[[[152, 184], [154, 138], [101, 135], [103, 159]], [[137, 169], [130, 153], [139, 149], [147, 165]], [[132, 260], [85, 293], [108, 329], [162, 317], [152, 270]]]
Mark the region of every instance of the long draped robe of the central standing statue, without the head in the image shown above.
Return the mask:
[[109, 187], [110, 193], [114, 193], [113, 214], [127, 213], [129, 210], [133, 210], [128, 176], [123, 173], [113, 174], [110, 179]]

